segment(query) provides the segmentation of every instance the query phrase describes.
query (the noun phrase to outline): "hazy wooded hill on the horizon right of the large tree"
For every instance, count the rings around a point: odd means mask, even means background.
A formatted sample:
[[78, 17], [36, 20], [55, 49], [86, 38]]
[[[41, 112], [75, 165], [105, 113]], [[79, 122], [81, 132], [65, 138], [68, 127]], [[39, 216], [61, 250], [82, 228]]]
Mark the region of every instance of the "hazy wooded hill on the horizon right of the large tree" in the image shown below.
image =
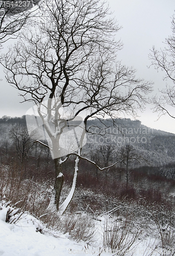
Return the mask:
[[[106, 139], [99, 139], [101, 135]], [[169, 157], [175, 157], [175, 134], [161, 130], [151, 129], [142, 125], [139, 120], [124, 119], [94, 119], [88, 121], [88, 129], [91, 133], [89, 139], [98, 143], [112, 143], [118, 146], [123, 143], [131, 143], [144, 150], [165, 153]]]

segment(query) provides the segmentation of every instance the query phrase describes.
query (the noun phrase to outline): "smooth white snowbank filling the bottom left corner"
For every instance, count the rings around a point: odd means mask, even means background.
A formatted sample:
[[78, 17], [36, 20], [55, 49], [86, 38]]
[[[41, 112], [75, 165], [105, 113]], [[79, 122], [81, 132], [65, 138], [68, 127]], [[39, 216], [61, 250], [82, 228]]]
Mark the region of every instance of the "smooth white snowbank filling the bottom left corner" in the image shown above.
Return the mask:
[[[84, 243], [71, 241], [68, 234], [45, 230], [39, 220], [23, 214], [16, 224], [5, 222], [7, 208], [0, 210], [0, 255], [3, 256], [65, 256], [94, 254]], [[38, 228], [43, 228], [43, 234]], [[96, 254], [95, 254], [96, 255]]]

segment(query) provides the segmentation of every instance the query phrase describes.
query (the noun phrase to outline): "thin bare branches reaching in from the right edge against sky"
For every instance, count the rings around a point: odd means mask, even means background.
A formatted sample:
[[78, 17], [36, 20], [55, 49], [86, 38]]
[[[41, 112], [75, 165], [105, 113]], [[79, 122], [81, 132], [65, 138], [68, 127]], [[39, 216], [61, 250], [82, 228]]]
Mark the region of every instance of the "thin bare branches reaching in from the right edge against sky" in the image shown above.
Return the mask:
[[153, 97], [155, 104], [155, 112], [159, 116], [168, 114], [170, 117], [175, 118], [173, 112], [175, 107], [175, 16], [172, 17], [172, 35], [165, 39], [165, 48], [163, 50], [156, 50], [153, 47], [152, 53], [149, 58], [152, 60], [152, 65], [157, 69], [164, 72], [164, 81], [169, 81], [172, 85], [166, 84], [166, 88], [161, 90], [161, 96]]

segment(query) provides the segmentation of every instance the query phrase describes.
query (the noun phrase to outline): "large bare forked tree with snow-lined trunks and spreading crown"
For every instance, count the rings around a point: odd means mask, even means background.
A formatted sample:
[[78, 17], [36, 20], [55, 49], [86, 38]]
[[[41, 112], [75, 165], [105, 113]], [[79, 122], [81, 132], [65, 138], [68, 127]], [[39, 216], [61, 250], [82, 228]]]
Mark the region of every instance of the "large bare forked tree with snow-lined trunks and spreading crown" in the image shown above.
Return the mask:
[[[136, 79], [133, 69], [116, 60], [122, 45], [114, 39], [119, 26], [109, 14], [106, 4], [98, 0], [45, 1], [35, 30], [23, 33], [2, 61], [8, 82], [24, 101], [37, 104], [55, 161], [54, 202], [61, 213], [74, 194], [87, 120], [99, 115], [114, 118], [121, 112], [136, 115], [137, 109], [144, 108], [145, 94], [151, 91], [151, 82]], [[48, 99], [46, 104], [44, 98]], [[72, 141], [73, 150], [70, 145], [61, 159], [60, 138], [66, 129], [75, 131], [79, 116], [84, 130], [78, 141]], [[59, 206], [62, 163], [71, 154], [76, 155], [72, 188]]]

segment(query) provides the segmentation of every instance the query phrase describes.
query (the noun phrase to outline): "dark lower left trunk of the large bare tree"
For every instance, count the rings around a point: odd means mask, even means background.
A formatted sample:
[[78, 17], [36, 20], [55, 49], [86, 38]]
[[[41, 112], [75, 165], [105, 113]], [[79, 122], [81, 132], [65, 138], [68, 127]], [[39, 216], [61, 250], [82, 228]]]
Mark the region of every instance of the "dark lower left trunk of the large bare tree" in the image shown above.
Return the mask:
[[56, 175], [54, 189], [55, 189], [55, 204], [56, 204], [57, 210], [59, 210], [61, 189], [62, 189], [63, 182], [64, 182], [64, 176], [61, 173], [62, 166], [59, 163], [59, 160], [60, 160], [60, 158], [55, 158], [54, 159], [54, 161], [55, 161], [55, 175]]

